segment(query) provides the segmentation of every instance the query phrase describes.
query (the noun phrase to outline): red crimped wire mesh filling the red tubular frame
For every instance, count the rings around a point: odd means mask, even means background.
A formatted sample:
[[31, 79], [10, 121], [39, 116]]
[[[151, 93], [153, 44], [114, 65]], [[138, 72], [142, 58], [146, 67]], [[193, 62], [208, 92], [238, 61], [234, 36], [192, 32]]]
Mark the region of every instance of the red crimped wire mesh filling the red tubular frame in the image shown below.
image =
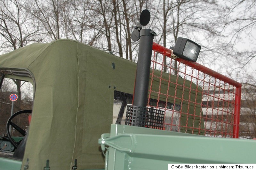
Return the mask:
[[[164, 130], [234, 137], [236, 87], [180, 61], [174, 68], [174, 63], [174, 59], [154, 51], [148, 107], [164, 110]], [[152, 95], [157, 97], [154, 104]]]

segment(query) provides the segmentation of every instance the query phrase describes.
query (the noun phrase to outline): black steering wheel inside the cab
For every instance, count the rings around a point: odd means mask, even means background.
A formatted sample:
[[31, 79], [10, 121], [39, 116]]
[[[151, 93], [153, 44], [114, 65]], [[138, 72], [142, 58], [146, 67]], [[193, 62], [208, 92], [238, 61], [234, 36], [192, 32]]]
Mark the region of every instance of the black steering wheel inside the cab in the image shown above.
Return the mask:
[[13, 118], [15, 118], [16, 116], [18, 116], [19, 114], [22, 114], [22, 113], [32, 113], [32, 110], [21, 110], [21, 111], [18, 111], [16, 113], [14, 113], [8, 119], [7, 124], [6, 124], [7, 137], [9, 139], [9, 141], [12, 143], [12, 145], [14, 146], [15, 149], [17, 149], [17, 147], [19, 145], [12, 139], [11, 132], [10, 132], [10, 125], [12, 125], [13, 128], [15, 128], [18, 132], [20, 132], [21, 135], [25, 136], [26, 135], [26, 131], [23, 130], [18, 125], [16, 125], [15, 123], [12, 122]]

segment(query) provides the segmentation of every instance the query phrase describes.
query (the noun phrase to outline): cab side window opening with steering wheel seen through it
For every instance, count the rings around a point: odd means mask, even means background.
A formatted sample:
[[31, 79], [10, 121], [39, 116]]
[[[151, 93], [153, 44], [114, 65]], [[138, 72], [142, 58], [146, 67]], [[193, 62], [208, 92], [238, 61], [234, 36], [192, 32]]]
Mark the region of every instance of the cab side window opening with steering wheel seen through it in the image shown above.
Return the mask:
[[5, 155], [18, 150], [27, 134], [34, 96], [33, 85], [22, 81], [22, 76], [20, 79], [6, 77], [2, 73], [0, 81], [0, 152]]

